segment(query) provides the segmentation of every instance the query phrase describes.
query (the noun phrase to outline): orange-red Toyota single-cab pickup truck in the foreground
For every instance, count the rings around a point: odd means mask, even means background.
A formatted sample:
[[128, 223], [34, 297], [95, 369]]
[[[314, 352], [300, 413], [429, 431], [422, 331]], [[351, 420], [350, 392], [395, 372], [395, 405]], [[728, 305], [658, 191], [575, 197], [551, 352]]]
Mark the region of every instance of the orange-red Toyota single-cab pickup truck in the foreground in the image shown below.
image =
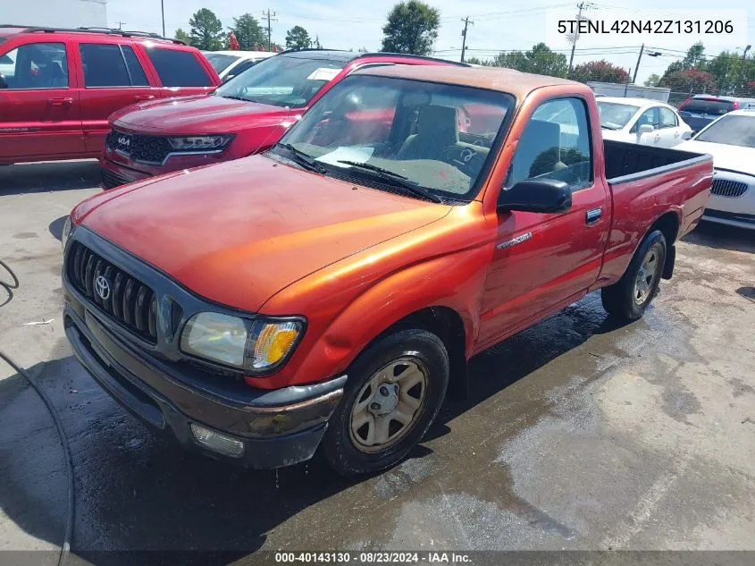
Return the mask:
[[256, 468], [404, 458], [475, 353], [602, 289], [642, 317], [710, 156], [600, 135], [585, 85], [382, 66], [271, 150], [75, 207], [65, 332], [116, 401]]

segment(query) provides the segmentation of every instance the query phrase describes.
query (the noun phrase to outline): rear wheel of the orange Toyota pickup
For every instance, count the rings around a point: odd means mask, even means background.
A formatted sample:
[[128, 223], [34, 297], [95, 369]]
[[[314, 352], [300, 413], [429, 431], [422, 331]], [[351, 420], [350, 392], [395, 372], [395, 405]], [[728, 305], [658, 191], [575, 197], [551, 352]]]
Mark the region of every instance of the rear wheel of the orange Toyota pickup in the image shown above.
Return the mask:
[[[654, 230], [645, 236], [621, 279], [600, 291], [600, 300], [609, 315], [627, 321], [642, 317], [658, 293], [666, 256], [667, 243], [663, 232]], [[650, 258], [652, 269], [646, 261]]]

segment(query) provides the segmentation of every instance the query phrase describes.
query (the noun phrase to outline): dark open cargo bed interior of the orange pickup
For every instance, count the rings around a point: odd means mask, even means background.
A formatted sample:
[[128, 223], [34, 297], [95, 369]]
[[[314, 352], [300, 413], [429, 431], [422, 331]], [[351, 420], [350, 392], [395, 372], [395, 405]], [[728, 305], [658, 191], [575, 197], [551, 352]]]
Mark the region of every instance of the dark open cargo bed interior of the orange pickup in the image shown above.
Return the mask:
[[709, 156], [670, 148], [641, 146], [624, 141], [603, 140], [606, 178], [611, 185], [667, 173], [710, 159]]

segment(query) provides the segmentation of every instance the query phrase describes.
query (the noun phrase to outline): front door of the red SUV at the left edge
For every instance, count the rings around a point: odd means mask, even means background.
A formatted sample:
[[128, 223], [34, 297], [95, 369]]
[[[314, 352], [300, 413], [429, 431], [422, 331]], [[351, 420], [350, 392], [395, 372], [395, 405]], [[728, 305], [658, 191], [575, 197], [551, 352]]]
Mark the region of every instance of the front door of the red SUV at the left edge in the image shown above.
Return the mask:
[[84, 152], [70, 47], [36, 39], [0, 55], [0, 164]]

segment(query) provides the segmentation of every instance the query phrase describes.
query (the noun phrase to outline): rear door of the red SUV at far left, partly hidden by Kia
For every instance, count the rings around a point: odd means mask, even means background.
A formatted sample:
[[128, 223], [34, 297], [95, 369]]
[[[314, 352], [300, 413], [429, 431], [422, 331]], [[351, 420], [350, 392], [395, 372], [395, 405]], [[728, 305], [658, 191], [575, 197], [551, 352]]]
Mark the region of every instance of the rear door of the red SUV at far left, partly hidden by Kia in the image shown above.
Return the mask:
[[88, 151], [102, 151], [110, 125], [107, 118], [123, 106], [159, 97], [129, 43], [81, 41], [81, 120]]

